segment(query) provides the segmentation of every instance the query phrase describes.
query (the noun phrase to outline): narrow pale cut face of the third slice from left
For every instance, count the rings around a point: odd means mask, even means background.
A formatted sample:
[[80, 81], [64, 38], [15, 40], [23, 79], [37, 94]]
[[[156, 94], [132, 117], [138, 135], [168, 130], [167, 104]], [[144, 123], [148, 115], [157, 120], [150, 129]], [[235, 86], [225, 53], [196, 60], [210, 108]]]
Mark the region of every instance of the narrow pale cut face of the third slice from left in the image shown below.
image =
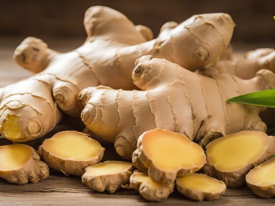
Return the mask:
[[132, 167], [130, 162], [123, 161], [105, 161], [91, 165], [87, 168], [86, 176], [102, 176], [102, 175], [113, 175], [129, 170]]

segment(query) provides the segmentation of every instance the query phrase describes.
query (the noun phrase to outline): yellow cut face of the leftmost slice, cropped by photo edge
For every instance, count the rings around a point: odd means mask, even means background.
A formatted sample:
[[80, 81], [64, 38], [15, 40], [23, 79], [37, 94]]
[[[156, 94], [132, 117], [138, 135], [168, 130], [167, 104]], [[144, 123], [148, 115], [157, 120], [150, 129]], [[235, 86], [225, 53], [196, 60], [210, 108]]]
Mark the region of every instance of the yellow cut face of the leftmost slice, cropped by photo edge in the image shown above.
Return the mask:
[[23, 167], [32, 155], [27, 145], [5, 145], [0, 147], [0, 171], [16, 170]]

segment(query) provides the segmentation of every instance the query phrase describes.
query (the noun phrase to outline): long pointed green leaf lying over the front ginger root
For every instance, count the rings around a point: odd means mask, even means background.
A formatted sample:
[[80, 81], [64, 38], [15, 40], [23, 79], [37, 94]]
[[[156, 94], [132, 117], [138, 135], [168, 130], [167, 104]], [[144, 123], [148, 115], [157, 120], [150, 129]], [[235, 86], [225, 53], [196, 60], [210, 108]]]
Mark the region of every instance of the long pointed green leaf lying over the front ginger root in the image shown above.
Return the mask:
[[275, 107], [275, 89], [253, 92], [227, 100], [229, 103], [244, 103], [257, 106]]

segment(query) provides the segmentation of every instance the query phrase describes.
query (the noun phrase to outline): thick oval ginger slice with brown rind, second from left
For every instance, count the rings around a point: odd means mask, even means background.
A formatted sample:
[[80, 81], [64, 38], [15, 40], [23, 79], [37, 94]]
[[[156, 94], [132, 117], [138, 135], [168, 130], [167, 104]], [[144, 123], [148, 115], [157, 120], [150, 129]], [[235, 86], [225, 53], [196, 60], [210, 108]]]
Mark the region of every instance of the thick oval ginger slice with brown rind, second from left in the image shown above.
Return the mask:
[[86, 167], [102, 159], [105, 148], [84, 133], [61, 131], [44, 140], [38, 151], [49, 167], [82, 176]]

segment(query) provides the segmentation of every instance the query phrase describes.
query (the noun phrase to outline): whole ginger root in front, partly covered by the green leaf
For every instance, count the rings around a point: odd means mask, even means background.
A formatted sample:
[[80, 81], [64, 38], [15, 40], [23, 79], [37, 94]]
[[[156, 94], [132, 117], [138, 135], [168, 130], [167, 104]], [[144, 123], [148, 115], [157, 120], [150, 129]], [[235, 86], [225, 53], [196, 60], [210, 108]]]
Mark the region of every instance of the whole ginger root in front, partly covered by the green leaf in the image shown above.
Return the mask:
[[83, 123], [113, 142], [125, 158], [131, 158], [138, 136], [155, 128], [183, 133], [201, 145], [241, 130], [266, 130], [258, 116], [263, 108], [226, 100], [275, 88], [271, 71], [261, 70], [248, 80], [228, 75], [211, 78], [148, 55], [138, 59], [133, 79], [143, 91], [99, 86], [80, 93]]

